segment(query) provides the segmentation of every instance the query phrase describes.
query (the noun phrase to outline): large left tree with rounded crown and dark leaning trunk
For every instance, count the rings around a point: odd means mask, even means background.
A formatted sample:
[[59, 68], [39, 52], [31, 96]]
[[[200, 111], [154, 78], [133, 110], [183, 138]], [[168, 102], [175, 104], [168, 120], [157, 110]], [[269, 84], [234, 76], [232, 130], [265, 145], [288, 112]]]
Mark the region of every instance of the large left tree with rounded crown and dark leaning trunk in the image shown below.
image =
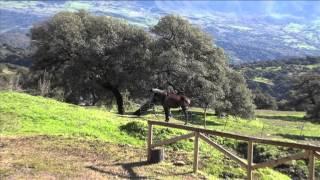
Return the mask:
[[95, 104], [109, 92], [122, 114], [120, 92], [128, 89], [134, 94], [147, 77], [143, 73], [150, 37], [122, 20], [84, 11], [60, 12], [31, 32], [38, 48], [33, 74], [49, 72], [52, 88], [63, 89], [67, 102]]

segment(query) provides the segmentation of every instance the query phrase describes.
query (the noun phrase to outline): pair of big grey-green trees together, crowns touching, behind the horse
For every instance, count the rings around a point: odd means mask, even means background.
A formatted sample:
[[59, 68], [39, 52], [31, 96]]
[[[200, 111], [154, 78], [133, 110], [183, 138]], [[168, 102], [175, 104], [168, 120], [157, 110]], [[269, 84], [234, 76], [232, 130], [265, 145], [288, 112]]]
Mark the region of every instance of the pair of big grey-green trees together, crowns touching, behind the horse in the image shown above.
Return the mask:
[[[172, 85], [194, 97], [193, 105], [217, 108], [231, 103], [231, 109], [237, 109], [227, 111], [232, 115], [253, 116], [245, 85], [228, 89], [232, 76], [227, 75], [227, 58], [208, 34], [173, 15], [162, 17], [151, 32], [157, 38], [119, 19], [60, 12], [32, 28], [38, 48], [34, 79], [39, 79], [39, 71], [49, 72], [53, 92], [62, 89], [72, 103], [95, 104], [108, 99], [109, 91], [121, 114], [121, 92], [130, 95], [126, 100], [141, 99], [147, 97], [145, 89]], [[229, 100], [231, 94], [244, 104]]]

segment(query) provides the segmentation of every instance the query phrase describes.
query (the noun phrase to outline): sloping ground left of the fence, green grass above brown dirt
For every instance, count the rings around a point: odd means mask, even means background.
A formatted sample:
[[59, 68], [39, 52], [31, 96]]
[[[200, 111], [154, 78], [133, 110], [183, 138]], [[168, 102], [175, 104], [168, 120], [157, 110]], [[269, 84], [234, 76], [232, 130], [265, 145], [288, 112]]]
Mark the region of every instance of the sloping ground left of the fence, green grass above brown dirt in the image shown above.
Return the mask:
[[130, 119], [21, 93], [0, 102], [1, 179], [204, 178], [146, 164], [144, 141], [119, 130]]

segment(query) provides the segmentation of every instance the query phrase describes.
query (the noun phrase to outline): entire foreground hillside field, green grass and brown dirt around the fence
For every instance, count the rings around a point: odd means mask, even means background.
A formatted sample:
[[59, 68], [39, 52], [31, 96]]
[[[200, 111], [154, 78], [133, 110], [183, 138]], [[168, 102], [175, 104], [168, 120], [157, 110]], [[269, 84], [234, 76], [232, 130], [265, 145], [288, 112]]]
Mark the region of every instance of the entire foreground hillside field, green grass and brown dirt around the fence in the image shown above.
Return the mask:
[[[138, 118], [117, 115], [112, 110], [79, 107], [23, 93], [0, 92], [0, 177], [30, 178], [245, 178], [245, 171], [221, 153], [201, 144], [200, 173], [192, 170], [190, 140], [167, 146], [166, 160], [146, 165], [146, 120], [160, 120], [157, 114]], [[203, 126], [202, 110], [191, 110], [191, 125]], [[172, 123], [183, 123], [181, 113], [173, 111]], [[207, 128], [285, 141], [320, 144], [320, 124], [307, 122], [302, 112], [257, 111], [255, 120], [207, 116]], [[184, 131], [156, 128], [155, 138], [163, 139]], [[216, 139], [228, 148], [241, 143]], [[259, 146], [269, 156], [283, 150]], [[17, 151], [16, 149], [19, 149]], [[184, 166], [175, 166], [183, 161]], [[299, 171], [306, 170], [305, 161], [296, 161]], [[296, 166], [294, 166], [296, 168]], [[279, 170], [279, 169], [277, 169]], [[297, 171], [298, 171], [297, 170]], [[285, 172], [285, 171], [282, 171]], [[307, 173], [307, 172], [306, 172]], [[317, 161], [317, 177], [320, 162]], [[289, 179], [271, 169], [255, 172], [261, 179]]]

